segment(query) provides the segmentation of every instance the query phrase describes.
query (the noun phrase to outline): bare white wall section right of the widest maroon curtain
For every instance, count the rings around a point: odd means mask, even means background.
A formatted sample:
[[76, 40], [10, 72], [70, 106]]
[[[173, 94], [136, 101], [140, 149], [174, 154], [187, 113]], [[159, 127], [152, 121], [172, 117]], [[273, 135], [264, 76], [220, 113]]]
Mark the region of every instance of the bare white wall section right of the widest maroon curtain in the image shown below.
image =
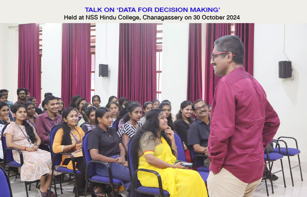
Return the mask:
[[187, 99], [188, 36], [188, 23], [163, 23], [161, 99], [172, 103], [173, 114]]

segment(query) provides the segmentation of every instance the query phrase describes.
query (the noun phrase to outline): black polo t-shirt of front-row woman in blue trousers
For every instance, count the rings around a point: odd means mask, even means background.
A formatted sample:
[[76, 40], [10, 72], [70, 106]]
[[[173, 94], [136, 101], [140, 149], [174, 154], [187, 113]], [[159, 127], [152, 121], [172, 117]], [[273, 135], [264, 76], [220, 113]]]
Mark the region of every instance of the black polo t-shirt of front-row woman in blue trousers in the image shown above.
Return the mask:
[[120, 153], [120, 138], [113, 127], [107, 127], [107, 131], [97, 126], [87, 137], [87, 149], [98, 149], [99, 154], [110, 157]]

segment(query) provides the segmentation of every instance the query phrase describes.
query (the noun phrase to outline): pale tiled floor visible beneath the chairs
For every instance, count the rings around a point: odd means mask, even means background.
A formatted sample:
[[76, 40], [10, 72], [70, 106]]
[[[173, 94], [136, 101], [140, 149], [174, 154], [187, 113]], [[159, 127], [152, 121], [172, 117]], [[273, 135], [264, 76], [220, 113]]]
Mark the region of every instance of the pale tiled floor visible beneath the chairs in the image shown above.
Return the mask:
[[[278, 171], [279, 168], [273, 167], [273, 171]], [[305, 181], [301, 181], [300, 171], [299, 168], [293, 169], [293, 181], [294, 187], [292, 187], [291, 176], [289, 169], [284, 169], [285, 171], [285, 180], [286, 180], [286, 188], [284, 188], [284, 183], [282, 179], [282, 172], [278, 172], [276, 175], [279, 177], [278, 180], [273, 181], [273, 188], [274, 194], [272, 194], [271, 184], [270, 181], [267, 180], [269, 195], [274, 197], [307, 197], [307, 171], [302, 171], [303, 179]], [[25, 184], [24, 182], [20, 181], [20, 179], [15, 179], [15, 177], [10, 177], [11, 188], [13, 191], [14, 197], [25, 197]], [[63, 194], [60, 194], [60, 188], [57, 188], [58, 196], [59, 197], [68, 197], [74, 196], [72, 192], [73, 182], [70, 183], [63, 183]], [[52, 191], [54, 188], [52, 187]], [[122, 196], [128, 196], [126, 191], [121, 192]], [[1, 194], [0, 194], [1, 196]], [[31, 197], [40, 197], [41, 195], [38, 193], [37, 189], [35, 188], [35, 184], [32, 184], [31, 191], [29, 191], [29, 196]], [[87, 195], [90, 196], [90, 195]], [[227, 195], [225, 195], [227, 196]], [[264, 180], [257, 186], [254, 197], [265, 197], [266, 196], [266, 186]], [[191, 196], [192, 197], [192, 196]], [[194, 196], [193, 196], [194, 197]]]

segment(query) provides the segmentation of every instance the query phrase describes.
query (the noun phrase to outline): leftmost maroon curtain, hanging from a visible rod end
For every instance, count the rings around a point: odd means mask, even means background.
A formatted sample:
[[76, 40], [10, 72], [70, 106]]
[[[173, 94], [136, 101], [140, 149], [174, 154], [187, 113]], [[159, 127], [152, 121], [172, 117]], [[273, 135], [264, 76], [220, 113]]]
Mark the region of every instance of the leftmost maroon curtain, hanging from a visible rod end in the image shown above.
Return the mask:
[[41, 66], [39, 56], [39, 26], [36, 23], [18, 25], [18, 88], [28, 89], [31, 97], [41, 102]]

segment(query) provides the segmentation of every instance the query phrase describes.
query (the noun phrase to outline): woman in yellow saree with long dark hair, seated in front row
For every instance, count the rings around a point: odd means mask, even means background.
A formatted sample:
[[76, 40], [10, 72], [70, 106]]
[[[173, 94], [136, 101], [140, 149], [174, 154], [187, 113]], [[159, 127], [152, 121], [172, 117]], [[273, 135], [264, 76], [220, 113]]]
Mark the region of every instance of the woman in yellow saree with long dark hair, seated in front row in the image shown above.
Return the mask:
[[[198, 172], [175, 164], [177, 146], [174, 132], [168, 127], [162, 109], [152, 109], [145, 124], [135, 134], [132, 144], [134, 169], [155, 170], [161, 175], [162, 187], [170, 197], [208, 197], [206, 185]], [[159, 187], [153, 173], [138, 172], [142, 186]]]

